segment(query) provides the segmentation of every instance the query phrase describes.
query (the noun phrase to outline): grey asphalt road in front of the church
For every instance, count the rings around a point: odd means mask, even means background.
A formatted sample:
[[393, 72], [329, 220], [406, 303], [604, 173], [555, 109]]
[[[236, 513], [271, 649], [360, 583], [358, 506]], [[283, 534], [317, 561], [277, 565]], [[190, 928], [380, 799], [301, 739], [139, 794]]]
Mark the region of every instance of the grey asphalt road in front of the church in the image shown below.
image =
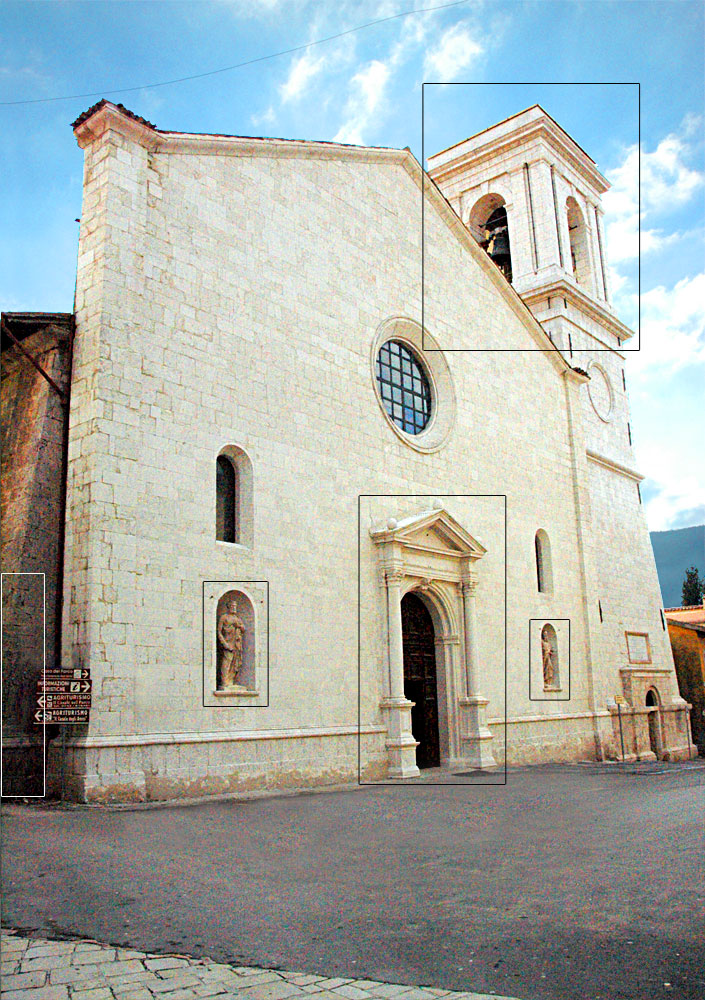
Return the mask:
[[4, 809], [3, 923], [522, 1000], [702, 1000], [705, 767]]

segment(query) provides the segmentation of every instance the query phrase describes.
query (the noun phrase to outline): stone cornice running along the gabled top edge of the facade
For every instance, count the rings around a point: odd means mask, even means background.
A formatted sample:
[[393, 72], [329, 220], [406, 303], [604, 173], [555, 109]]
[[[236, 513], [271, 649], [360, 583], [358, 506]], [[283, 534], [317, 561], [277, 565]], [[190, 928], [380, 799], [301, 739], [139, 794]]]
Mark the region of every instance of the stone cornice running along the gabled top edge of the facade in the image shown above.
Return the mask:
[[422, 195], [455, 235], [456, 239], [475, 259], [485, 275], [494, 284], [506, 304], [525, 325], [527, 332], [538, 345], [541, 353], [550, 360], [556, 371], [565, 377], [585, 381], [587, 376], [577, 373], [568, 364], [535, 318], [521, 296], [509, 284], [490, 257], [475, 242], [455, 209], [440, 188], [427, 174], [411, 150], [387, 146], [349, 146], [344, 143], [315, 142], [301, 139], [256, 139], [245, 136], [205, 135], [188, 132], [161, 132], [151, 122], [134, 115], [121, 105], [102, 100], [76, 119], [74, 133], [81, 148], [90, 146], [108, 130], [159, 153], [218, 153], [233, 156], [302, 156], [310, 159], [349, 159], [367, 163], [389, 163], [403, 167]]

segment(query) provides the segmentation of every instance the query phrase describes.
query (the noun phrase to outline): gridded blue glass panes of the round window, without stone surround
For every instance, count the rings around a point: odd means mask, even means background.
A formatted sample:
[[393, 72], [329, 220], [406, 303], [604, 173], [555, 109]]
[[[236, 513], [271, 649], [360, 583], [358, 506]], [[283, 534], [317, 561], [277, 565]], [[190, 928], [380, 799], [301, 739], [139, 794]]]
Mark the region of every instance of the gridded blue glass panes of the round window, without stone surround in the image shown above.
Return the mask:
[[416, 354], [399, 340], [382, 344], [377, 355], [382, 404], [397, 427], [420, 434], [431, 419], [431, 386]]

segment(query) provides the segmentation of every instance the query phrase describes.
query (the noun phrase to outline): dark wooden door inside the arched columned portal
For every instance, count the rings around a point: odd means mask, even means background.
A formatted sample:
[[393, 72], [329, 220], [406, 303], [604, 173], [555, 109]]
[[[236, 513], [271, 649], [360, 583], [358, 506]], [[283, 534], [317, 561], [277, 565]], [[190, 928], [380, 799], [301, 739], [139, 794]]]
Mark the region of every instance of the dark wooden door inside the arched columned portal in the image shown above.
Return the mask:
[[401, 602], [404, 643], [404, 695], [413, 701], [411, 731], [418, 740], [419, 768], [439, 767], [438, 696], [436, 647], [433, 619], [418, 594], [406, 594]]

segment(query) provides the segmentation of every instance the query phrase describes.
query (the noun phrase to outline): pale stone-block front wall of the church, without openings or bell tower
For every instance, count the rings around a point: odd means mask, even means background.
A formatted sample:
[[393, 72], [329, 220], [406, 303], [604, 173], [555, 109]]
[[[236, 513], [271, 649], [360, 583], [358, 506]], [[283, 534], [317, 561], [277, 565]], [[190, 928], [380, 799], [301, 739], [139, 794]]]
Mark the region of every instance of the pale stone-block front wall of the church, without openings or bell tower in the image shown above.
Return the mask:
[[[369, 526], [438, 496], [488, 546], [477, 618], [498, 757], [505, 715], [512, 760], [599, 754], [619, 675], [596, 639], [591, 532], [605, 526], [590, 520], [587, 380], [433, 193], [422, 289], [410, 154], [164, 136], [101, 111], [77, 134], [64, 644], [91, 669], [94, 701], [71, 747], [75, 794], [354, 779], [358, 599], [371, 734], [360, 764], [379, 770], [387, 654]], [[447, 360], [436, 392], [453, 411], [428, 448], [390, 426], [374, 376], [380, 331], [397, 318], [420, 330], [422, 311]], [[498, 355], [499, 343], [511, 351]], [[433, 375], [431, 351], [427, 363]], [[241, 543], [215, 535], [216, 459], [228, 449], [251, 465]], [[374, 500], [358, 525], [361, 494]], [[550, 594], [537, 591], [539, 528]], [[204, 704], [204, 581], [268, 584], [267, 704]], [[564, 704], [529, 697], [529, 623], [543, 618], [571, 623]]]

